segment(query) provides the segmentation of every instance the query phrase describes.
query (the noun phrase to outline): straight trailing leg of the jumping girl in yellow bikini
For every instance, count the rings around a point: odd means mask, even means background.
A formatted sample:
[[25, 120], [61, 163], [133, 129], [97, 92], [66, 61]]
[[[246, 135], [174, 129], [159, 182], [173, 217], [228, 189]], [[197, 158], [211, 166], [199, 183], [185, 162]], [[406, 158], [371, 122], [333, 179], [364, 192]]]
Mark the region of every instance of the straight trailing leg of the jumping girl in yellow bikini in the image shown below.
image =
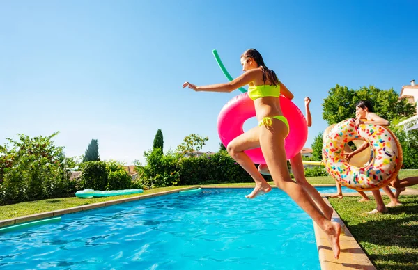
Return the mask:
[[260, 129], [261, 150], [263, 151], [264, 159], [270, 170], [274, 184], [286, 192], [327, 234], [332, 250], [334, 251], [334, 257], [338, 258], [340, 253], [339, 234], [341, 232], [341, 226], [339, 223], [327, 220], [302, 186], [292, 181], [291, 175], [288, 172], [286, 152], [284, 149], [284, 138], [286, 137], [287, 131], [288, 127], [284, 122], [277, 119], [272, 119], [272, 125], [270, 127], [261, 127]]

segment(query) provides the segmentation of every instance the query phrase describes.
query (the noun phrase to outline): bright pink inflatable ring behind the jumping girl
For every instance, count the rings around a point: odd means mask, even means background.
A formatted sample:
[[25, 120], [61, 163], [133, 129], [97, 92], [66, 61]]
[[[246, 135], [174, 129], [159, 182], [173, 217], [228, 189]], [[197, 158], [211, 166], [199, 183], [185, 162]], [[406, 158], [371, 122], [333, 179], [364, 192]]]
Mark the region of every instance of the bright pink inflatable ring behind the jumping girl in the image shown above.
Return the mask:
[[[289, 134], [284, 141], [286, 149], [286, 159], [295, 157], [302, 150], [308, 137], [307, 121], [303, 113], [291, 100], [280, 96], [281, 111], [289, 123]], [[248, 97], [247, 93], [242, 93], [233, 97], [219, 113], [217, 129], [219, 138], [225, 147], [234, 138], [244, 133], [242, 126], [249, 118], [256, 116], [254, 102]], [[255, 164], [265, 164], [261, 148], [254, 148], [245, 151]]]

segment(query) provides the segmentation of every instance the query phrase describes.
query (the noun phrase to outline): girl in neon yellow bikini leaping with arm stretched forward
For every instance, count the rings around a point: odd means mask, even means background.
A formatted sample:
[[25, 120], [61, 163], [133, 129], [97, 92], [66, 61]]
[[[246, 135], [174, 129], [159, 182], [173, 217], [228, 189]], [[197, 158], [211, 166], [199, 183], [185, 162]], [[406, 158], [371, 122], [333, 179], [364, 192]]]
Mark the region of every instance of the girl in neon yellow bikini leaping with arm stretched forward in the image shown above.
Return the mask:
[[270, 168], [274, 184], [285, 191], [327, 234], [334, 257], [340, 253], [339, 235], [341, 226], [339, 223], [329, 221], [316, 207], [314, 201], [306, 191], [293, 182], [286, 164], [286, 152], [284, 139], [288, 135], [289, 127], [280, 107], [280, 93], [292, 99], [292, 93], [281, 84], [274, 71], [269, 70], [256, 49], [245, 51], [240, 57], [244, 73], [225, 84], [212, 84], [209, 86], [196, 86], [185, 82], [183, 88], [189, 87], [195, 91], [224, 92], [249, 84], [248, 95], [254, 100], [258, 127], [238, 136], [229, 143], [227, 150], [231, 157], [244, 168], [256, 182], [254, 191], [249, 198], [254, 198], [258, 193], [267, 193], [271, 186], [258, 172], [251, 159], [245, 154], [245, 150], [261, 147], [265, 162]]

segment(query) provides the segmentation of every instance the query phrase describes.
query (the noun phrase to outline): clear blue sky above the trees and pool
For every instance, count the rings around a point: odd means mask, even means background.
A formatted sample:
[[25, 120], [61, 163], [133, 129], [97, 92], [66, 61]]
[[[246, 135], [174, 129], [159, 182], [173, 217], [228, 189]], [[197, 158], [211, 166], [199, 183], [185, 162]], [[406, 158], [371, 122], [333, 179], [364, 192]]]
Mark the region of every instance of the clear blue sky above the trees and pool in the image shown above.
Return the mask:
[[[327, 124], [335, 84], [400, 91], [418, 80], [415, 1], [1, 1], [0, 143], [48, 136], [68, 156], [97, 138], [102, 159], [144, 162], [157, 129], [164, 150], [187, 134], [219, 149], [217, 116], [233, 93], [194, 93], [184, 81], [226, 81], [258, 49], [295, 95], [312, 99], [306, 146]], [[245, 129], [255, 125], [249, 120]]]

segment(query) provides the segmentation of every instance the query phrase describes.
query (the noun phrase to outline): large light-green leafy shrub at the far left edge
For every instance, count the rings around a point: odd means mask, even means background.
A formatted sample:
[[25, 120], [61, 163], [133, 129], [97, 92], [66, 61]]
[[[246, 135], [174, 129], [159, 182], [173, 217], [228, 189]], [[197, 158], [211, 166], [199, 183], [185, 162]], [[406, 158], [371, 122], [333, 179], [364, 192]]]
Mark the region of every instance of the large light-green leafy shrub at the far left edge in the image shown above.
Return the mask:
[[52, 136], [29, 138], [20, 135], [20, 141], [0, 146], [0, 204], [28, 200], [57, 198], [75, 192], [70, 181], [74, 159], [66, 158], [62, 147], [56, 147]]

